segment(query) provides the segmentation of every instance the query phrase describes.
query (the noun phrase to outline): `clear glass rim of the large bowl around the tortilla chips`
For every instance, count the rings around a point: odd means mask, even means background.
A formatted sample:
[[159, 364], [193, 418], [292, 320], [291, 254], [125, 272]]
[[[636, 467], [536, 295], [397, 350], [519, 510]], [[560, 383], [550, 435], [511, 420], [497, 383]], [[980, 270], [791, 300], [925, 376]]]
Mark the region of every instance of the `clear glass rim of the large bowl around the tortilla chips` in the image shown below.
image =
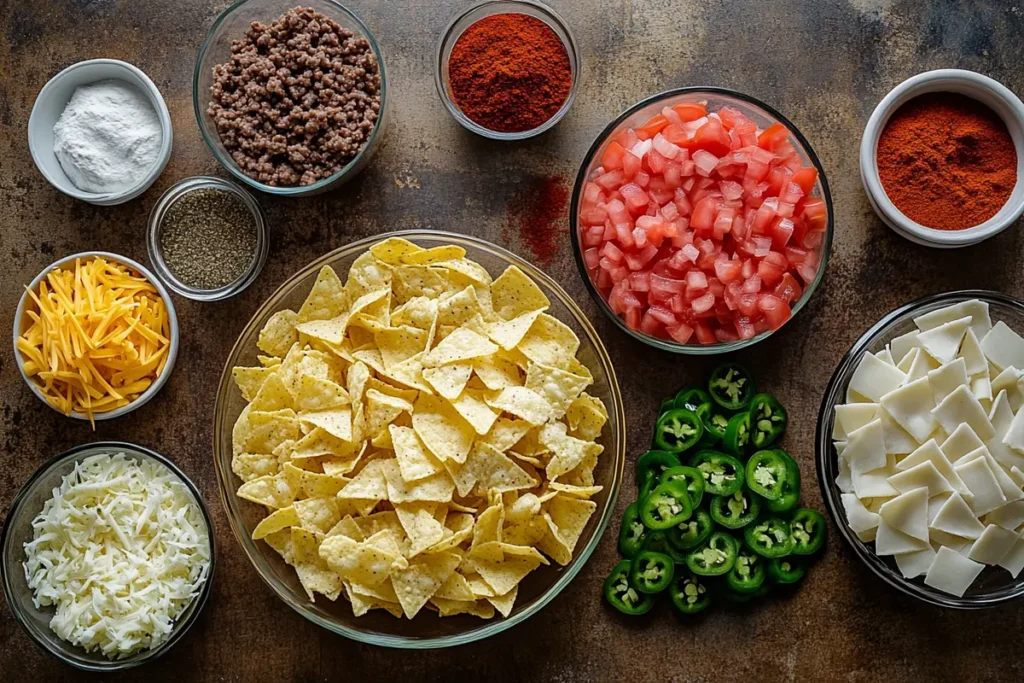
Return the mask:
[[[360, 630], [352, 629], [346, 626], [342, 626], [333, 621], [323, 620], [316, 614], [309, 612], [307, 610], [307, 602], [304, 600], [294, 600], [292, 595], [279, 586], [276, 580], [274, 580], [270, 572], [265, 567], [265, 560], [262, 557], [262, 553], [256, 548], [256, 543], [252, 540], [248, 531], [246, 531], [244, 525], [241, 522], [241, 515], [236, 514], [232, 506], [238, 503], [238, 498], [236, 497], [236, 486], [233, 472], [225, 471], [222, 467], [221, 453], [220, 453], [220, 434], [217, 431], [218, 424], [227, 424], [226, 422], [226, 408], [224, 401], [221, 400], [221, 395], [223, 393], [222, 389], [225, 386], [230, 386], [231, 380], [231, 358], [244, 350], [242, 348], [243, 339], [252, 334], [255, 330], [257, 323], [264, 315], [274, 312], [272, 309], [280, 309], [280, 304], [274, 304], [281, 296], [287, 294], [293, 290], [298, 282], [309, 276], [310, 274], [316, 272], [319, 268], [328, 265], [330, 261], [339, 258], [342, 254], [351, 255], [357, 254], [358, 252], [365, 251], [370, 246], [377, 244], [383, 240], [390, 238], [402, 238], [409, 240], [410, 242], [416, 242], [417, 240], [431, 240], [437, 242], [444, 242], [446, 244], [455, 244], [460, 246], [468, 246], [473, 249], [481, 249], [483, 251], [489, 252], [495, 256], [501, 257], [506, 260], [510, 265], [516, 265], [526, 272], [531, 278], [537, 278], [545, 287], [547, 287], [551, 293], [553, 293], [559, 302], [565, 305], [571, 312], [575, 323], [580, 325], [583, 329], [585, 336], [591, 341], [594, 346], [595, 355], [597, 356], [597, 361], [600, 364], [602, 371], [605, 373], [608, 381], [608, 393], [610, 394], [610, 405], [608, 405], [609, 413], [615, 415], [616, 419], [614, 424], [611, 425], [613, 432], [610, 436], [608, 447], [606, 453], [609, 458], [614, 458], [612, 462], [612, 481], [608, 490], [608, 500], [605, 505], [604, 511], [601, 514], [601, 518], [598, 520], [598, 525], [594, 530], [593, 536], [588, 540], [588, 542], [581, 548], [578, 547], [577, 553], [574, 554], [572, 561], [562, 568], [561, 572], [557, 575], [556, 581], [548, 587], [548, 589], [542, 593], [535, 601], [530, 604], [529, 608], [519, 614], [513, 614], [507, 618], [501, 620], [490, 620], [481, 622], [479, 628], [475, 628], [471, 631], [454, 634], [450, 636], [441, 636], [431, 639], [414, 639], [404, 636], [394, 636], [388, 634], [377, 634], [377, 633], [365, 633]], [[273, 305], [271, 305], [273, 304]], [[615, 503], [618, 498], [618, 492], [622, 487], [623, 476], [626, 467], [626, 413], [623, 405], [622, 393], [618, 387], [618, 380], [615, 376], [614, 367], [612, 366], [611, 358], [608, 355], [607, 349], [604, 346], [604, 342], [601, 341], [600, 336], [598, 336], [597, 331], [591, 325], [590, 319], [584, 314], [580, 307], [575, 304], [571, 297], [562, 289], [562, 287], [550, 275], [541, 271], [536, 266], [531, 265], [525, 259], [517, 256], [516, 254], [499, 247], [498, 245], [492, 244], [480, 238], [471, 234], [460, 234], [456, 232], [446, 232], [442, 230], [398, 230], [393, 232], [383, 232], [380, 234], [373, 234], [356, 242], [349, 243], [344, 247], [339, 247], [334, 249], [329, 253], [321, 256], [314, 261], [303, 266], [297, 270], [293, 275], [286, 280], [267, 299], [260, 305], [260, 307], [253, 313], [252, 317], [246, 324], [246, 327], [239, 334], [231, 346], [231, 350], [228, 352], [227, 358], [224, 361], [224, 369], [221, 373], [220, 380], [217, 384], [217, 398], [214, 408], [214, 436], [213, 436], [213, 459], [214, 465], [217, 469], [217, 488], [220, 492], [220, 502], [224, 507], [225, 516], [227, 517], [228, 524], [231, 527], [231, 532], [234, 536], [236, 541], [242, 546], [243, 552], [249, 559], [250, 564], [256, 570], [256, 573], [266, 584], [274, 595], [280, 598], [285, 604], [294, 609], [296, 612], [301, 614], [303, 617], [309, 620], [313, 624], [327, 629], [333, 633], [339, 634], [351, 640], [355, 640], [362, 643], [368, 643], [371, 645], [380, 645], [383, 647], [394, 647], [401, 649], [439, 649], [442, 647], [453, 647], [456, 645], [465, 645], [477, 640], [482, 640], [490, 636], [497, 635], [506, 631], [519, 623], [525, 621], [529, 616], [539, 612], [542, 608], [548, 605], [552, 600], [554, 600], [562, 590], [568, 586], [568, 584], [577, 577], [577, 574], [583, 569], [583, 567], [590, 560], [597, 546], [600, 544], [604, 532], [607, 530], [608, 524], [615, 513]], [[609, 423], [610, 424], [610, 423]], [[612, 446], [617, 443], [618, 449], [612, 450]], [[232, 487], [229, 487], [231, 485]]]

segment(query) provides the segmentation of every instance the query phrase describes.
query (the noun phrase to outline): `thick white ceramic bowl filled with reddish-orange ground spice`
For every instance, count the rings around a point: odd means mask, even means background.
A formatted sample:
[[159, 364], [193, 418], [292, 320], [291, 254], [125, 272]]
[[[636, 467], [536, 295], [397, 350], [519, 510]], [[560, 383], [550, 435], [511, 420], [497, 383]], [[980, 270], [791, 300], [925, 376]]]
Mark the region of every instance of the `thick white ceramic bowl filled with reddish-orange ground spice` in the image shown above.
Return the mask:
[[1024, 212], [1024, 103], [974, 72], [944, 69], [896, 86], [860, 143], [874, 212], [927, 247], [974, 245]]

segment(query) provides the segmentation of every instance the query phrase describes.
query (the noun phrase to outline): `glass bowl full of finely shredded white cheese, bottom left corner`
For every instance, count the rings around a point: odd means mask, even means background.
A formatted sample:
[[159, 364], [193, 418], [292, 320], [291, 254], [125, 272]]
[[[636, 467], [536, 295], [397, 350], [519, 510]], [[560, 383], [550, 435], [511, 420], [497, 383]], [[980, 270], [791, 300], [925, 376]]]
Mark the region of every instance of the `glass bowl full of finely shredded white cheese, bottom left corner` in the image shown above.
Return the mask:
[[3, 589], [44, 649], [89, 671], [167, 651], [210, 592], [214, 542], [196, 486], [140, 446], [81, 445], [53, 459], [11, 505]]

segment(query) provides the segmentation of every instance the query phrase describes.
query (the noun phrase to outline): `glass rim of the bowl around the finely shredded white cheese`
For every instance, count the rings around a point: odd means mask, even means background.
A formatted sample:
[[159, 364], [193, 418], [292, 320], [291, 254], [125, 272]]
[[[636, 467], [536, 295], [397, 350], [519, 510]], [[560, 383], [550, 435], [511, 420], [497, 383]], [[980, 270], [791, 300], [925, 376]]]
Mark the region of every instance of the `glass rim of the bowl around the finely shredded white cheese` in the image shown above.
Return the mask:
[[[111, 659], [110, 664], [103, 665], [93, 665], [84, 661], [78, 661], [75, 659], [70, 659], [63, 655], [59, 650], [50, 647], [50, 642], [42, 641], [36, 637], [36, 634], [26, 625], [25, 616], [15, 607], [16, 601], [12, 599], [14, 595], [14, 587], [12, 585], [12, 578], [6, 572], [4, 564], [0, 563], [0, 578], [2, 578], [4, 599], [7, 601], [7, 605], [10, 608], [11, 613], [14, 614], [14, 621], [17, 622], [22, 630], [29, 636], [36, 645], [45, 650], [48, 654], [56, 657], [60, 661], [79, 669], [81, 671], [91, 671], [91, 672], [113, 672], [113, 671], [124, 671], [126, 669], [134, 669], [135, 667], [140, 667], [144, 664], [153, 661], [158, 657], [163, 656], [167, 651], [169, 651], [174, 645], [178, 643], [181, 638], [188, 632], [191, 626], [199, 620], [199, 615], [202, 613], [203, 609], [206, 607], [206, 603], [209, 601], [210, 593], [213, 589], [213, 574], [216, 568], [217, 562], [217, 541], [214, 533], [213, 520], [210, 517], [210, 511], [206, 507], [206, 502], [203, 500], [203, 496], [199, 490], [199, 487], [193, 482], [188, 476], [178, 468], [169, 458], [163, 456], [152, 449], [147, 449], [144, 445], [138, 445], [130, 441], [92, 441], [89, 443], [80, 443], [76, 446], [65, 451], [63, 453], [53, 456], [45, 463], [39, 466], [39, 468], [33, 472], [32, 476], [22, 484], [17, 494], [14, 496], [14, 500], [11, 501], [10, 507], [7, 510], [7, 518], [4, 520], [3, 531], [0, 532], [0, 552], [7, 547], [8, 536], [12, 532], [11, 528], [13, 526], [13, 520], [17, 517], [17, 513], [20, 508], [25, 505], [26, 500], [29, 495], [33, 492], [35, 485], [45, 474], [49, 473], [50, 470], [59, 467], [65, 462], [79, 457], [85, 451], [121, 451], [126, 455], [141, 455], [143, 457], [148, 457], [156, 460], [161, 465], [166, 467], [171, 471], [172, 474], [177, 476], [177, 478], [185, 484], [188, 492], [191, 494], [193, 498], [196, 500], [196, 504], [199, 506], [200, 512], [203, 515], [203, 520], [206, 522], [207, 535], [210, 539], [210, 568], [207, 571], [206, 581], [203, 582], [203, 587], [200, 589], [199, 595], [197, 595], [189, 605], [195, 604], [195, 608], [191, 613], [183, 622], [176, 622], [171, 634], [167, 637], [160, 646], [156, 649], [142, 650], [132, 656], [125, 659]], [[189, 605], [185, 606], [185, 609]], [[69, 645], [72, 646], [72, 645]], [[73, 646], [72, 646], [73, 647]]]

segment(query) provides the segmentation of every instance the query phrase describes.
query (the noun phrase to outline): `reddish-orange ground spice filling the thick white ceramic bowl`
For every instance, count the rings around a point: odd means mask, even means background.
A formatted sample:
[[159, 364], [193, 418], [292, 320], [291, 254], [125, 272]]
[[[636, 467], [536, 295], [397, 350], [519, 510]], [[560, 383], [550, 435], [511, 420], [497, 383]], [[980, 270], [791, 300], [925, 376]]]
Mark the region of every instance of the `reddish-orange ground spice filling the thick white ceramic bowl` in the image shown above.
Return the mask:
[[985, 104], [951, 92], [920, 95], [896, 110], [877, 157], [886, 195], [926, 227], [979, 225], [1002, 208], [1017, 183], [1007, 124]]

